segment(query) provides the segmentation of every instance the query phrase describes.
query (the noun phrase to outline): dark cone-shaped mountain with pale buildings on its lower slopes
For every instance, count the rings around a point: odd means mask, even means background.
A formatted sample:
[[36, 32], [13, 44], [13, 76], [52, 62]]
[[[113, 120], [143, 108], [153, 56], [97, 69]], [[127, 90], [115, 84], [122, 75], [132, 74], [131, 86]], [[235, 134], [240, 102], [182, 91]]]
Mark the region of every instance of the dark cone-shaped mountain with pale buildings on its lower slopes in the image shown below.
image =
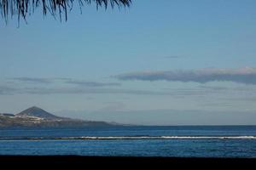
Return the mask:
[[93, 122], [55, 116], [36, 106], [14, 114], [0, 114], [0, 127], [106, 127], [110, 122]]

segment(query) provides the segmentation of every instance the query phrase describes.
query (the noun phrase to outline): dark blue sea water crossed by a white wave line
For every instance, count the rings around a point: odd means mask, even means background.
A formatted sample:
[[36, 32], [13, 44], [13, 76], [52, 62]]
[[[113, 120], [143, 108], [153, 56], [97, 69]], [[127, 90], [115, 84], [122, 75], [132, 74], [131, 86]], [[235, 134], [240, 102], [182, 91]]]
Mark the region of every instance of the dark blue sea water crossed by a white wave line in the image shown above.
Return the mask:
[[0, 155], [256, 157], [256, 126], [0, 129]]

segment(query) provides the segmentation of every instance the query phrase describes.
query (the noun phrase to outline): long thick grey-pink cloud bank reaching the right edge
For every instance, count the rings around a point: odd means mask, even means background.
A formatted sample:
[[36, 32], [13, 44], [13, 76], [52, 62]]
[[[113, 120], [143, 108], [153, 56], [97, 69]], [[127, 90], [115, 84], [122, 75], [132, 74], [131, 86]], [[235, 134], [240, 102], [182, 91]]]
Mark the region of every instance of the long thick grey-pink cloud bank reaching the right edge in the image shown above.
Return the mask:
[[240, 82], [256, 84], [256, 69], [201, 69], [177, 71], [139, 71], [115, 76], [119, 80], [169, 81], [169, 82]]

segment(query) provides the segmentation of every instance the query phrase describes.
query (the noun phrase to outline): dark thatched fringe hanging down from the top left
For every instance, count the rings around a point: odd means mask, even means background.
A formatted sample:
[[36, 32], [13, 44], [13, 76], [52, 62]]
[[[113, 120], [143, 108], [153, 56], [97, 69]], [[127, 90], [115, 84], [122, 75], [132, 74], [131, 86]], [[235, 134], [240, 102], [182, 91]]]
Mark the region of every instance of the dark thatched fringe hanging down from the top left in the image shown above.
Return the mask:
[[41, 7], [44, 15], [49, 13], [55, 17], [58, 14], [60, 20], [64, 15], [67, 20], [67, 12], [73, 8], [73, 3], [78, 3], [80, 8], [90, 3], [96, 3], [96, 8], [113, 8], [115, 5], [130, 7], [131, 0], [0, 0], [0, 12], [6, 22], [9, 15], [17, 16], [20, 21], [20, 17], [26, 20], [27, 14], [32, 14], [36, 8]]

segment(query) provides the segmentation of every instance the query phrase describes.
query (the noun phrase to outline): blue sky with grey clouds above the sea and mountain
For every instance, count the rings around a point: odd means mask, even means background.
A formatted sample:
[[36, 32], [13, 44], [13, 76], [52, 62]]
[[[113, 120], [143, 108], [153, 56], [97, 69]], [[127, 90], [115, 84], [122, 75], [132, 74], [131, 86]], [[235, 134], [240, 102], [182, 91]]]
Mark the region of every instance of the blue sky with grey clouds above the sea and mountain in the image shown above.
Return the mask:
[[[256, 125], [256, 1], [133, 0], [0, 22], [0, 112]], [[77, 10], [76, 10], [77, 9]]]

